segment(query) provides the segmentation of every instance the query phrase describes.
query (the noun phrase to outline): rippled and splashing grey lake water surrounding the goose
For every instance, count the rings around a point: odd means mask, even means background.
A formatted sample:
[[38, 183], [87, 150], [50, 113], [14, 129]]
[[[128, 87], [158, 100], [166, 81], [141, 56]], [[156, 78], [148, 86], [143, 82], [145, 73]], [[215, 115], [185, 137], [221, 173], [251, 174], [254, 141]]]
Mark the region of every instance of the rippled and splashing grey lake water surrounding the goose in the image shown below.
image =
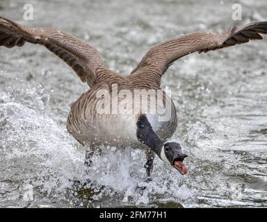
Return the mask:
[[[58, 28], [95, 46], [111, 69], [129, 74], [150, 46], [194, 31], [222, 32], [267, 20], [267, 1], [1, 0], [0, 15], [26, 26]], [[32, 3], [34, 20], [24, 21]], [[83, 178], [84, 149], [66, 130], [70, 103], [88, 90], [42, 46], [0, 49], [0, 207], [267, 207], [267, 36], [192, 54], [162, 78], [171, 89], [189, 172], [145, 155], [106, 148], [93, 157], [95, 189]]]

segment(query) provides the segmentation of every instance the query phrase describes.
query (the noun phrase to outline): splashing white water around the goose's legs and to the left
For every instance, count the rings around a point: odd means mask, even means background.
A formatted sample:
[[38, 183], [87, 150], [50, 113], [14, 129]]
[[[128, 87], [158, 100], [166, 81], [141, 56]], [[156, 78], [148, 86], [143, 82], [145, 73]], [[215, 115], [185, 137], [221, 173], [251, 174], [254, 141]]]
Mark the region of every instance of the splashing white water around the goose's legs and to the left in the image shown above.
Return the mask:
[[[171, 171], [156, 158], [154, 181], [145, 182], [145, 155], [142, 151], [126, 148], [103, 147], [101, 155], [92, 157], [90, 174], [84, 174], [84, 150], [68, 135], [63, 123], [57, 119], [36, 89], [22, 91], [22, 97], [34, 98], [16, 101], [10, 94], [1, 92], [0, 124], [1, 155], [6, 161], [8, 173], [1, 181], [13, 180], [25, 196], [26, 186], [33, 186], [34, 197], [59, 198], [65, 200], [65, 189], [72, 189], [72, 180], [84, 180], [86, 177], [103, 187], [101, 194], [95, 194], [95, 200], [109, 194], [120, 194], [122, 202], [129, 198], [136, 205], [147, 205], [154, 195], [166, 200], [185, 200], [192, 196], [185, 185], [181, 185], [181, 176]], [[33, 109], [34, 105], [34, 109]], [[168, 170], [168, 175], [163, 173]], [[147, 189], [141, 195], [136, 187], [144, 184]], [[23, 185], [23, 186], [22, 186]], [[12, 193], [12, 191], [11, 191]], [[166, 198], [168, 196], [168, 198]], [[13, 196], [16, 200], [17, 196]], [[22, 198], [21, 205], [25, 198]], [[110, 200], [113, 201], [112, 198]], [[41, 202], [39, 200], [39, 202]]]

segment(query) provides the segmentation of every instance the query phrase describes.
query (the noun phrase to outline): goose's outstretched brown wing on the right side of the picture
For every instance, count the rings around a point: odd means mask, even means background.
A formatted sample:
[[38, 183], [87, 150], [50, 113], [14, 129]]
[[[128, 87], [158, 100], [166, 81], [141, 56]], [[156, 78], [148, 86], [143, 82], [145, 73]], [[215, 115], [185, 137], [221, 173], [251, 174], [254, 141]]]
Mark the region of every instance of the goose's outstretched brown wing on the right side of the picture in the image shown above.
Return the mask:
[[261, 40], [261, 33], [267, 33], [267, 22], [234, 26], [222, 34], [198, 32], [176, 37], [153, 46], [131, 74], [151, 76], [156, 84], [160, 84], [161, 76], [175, 60], [196, 51], [202, 53]]

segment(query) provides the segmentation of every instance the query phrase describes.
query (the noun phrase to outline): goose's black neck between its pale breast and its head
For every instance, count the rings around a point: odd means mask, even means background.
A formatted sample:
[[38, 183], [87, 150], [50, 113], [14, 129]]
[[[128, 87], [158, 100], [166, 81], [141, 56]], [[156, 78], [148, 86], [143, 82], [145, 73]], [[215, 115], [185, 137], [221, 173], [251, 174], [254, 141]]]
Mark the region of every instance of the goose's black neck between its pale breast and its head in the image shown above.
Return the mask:
[[156, 135], [152, 129], [145, 114], [141, 114], [136, 122], [137, 130], [136, 136], [138, 141], [147, 145], [152, 149], [159, 157], [161, 156], [161, 148], [163, 147], [163, 141]]

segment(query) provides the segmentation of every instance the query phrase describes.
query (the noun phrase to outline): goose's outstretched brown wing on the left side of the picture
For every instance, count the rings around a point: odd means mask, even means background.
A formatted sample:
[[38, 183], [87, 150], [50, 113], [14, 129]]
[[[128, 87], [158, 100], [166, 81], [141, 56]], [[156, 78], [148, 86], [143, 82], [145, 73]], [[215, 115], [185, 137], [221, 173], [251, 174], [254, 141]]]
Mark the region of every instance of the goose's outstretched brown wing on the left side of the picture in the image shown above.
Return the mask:
[[25, 42], [45, 46], [72, 67], [90, 87], [96, 83], [97, 67], [104, 67], [97, 50], [72, 35], [49, 28], [26, 28], [0, 17], [0, 46], [13, 48], [23, 46]]

